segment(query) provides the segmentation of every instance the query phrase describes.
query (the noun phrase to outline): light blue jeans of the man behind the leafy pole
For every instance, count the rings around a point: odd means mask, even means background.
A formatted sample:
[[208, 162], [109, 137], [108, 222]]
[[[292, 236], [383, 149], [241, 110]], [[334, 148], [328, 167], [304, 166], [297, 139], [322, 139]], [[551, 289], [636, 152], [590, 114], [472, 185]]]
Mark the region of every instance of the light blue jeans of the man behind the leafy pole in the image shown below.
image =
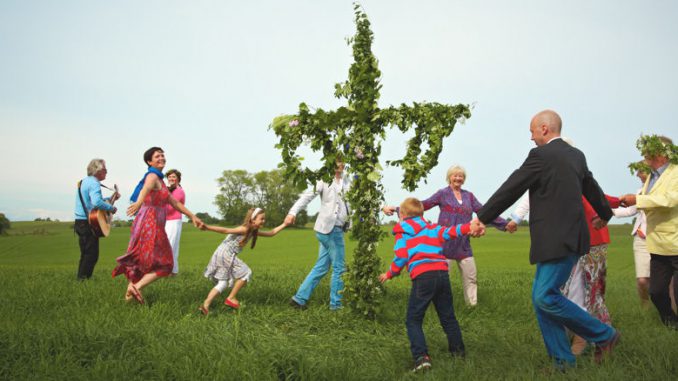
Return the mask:
[[306, 305], [311, 298], [313, 290], [330, 270], [330, 266], [332, 266], [330, 309], [337, 309], [341, 307], [340, 292], [344, 290], [344, 281], [341, 279], [341, 276], [346, 271], [344, 262], [346, 256], [344, 252], [344, 231], [341, 226], [335, 226], [329, 234], [315, 232], [315, 236], [320, 243], [318, 260], [292, 299], [301, 305]]

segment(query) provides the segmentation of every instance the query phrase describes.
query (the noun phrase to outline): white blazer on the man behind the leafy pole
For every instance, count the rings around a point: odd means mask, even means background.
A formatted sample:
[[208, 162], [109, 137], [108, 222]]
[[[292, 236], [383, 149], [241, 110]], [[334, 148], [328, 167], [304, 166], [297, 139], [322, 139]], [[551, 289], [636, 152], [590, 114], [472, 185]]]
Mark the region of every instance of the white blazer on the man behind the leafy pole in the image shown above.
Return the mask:
[[318, 181], [315, 187], [307, 189], [299, 196], [297, 202], [292, 205], [288, 214], [296, 216], [299, 212], [306, 209], [313, 199], [320, 195], [320, 210], [318, 218], [315, 220], [313, 230], [318, 233], [328, 234], [335, 226], [342, 226], [344, 222], [349, 221], [350, 209], [345, 201], [346, 192], [351, 187], [349, 176], [342, 176], [337, 181], [333, 179], [328, 184], [324, 181]]

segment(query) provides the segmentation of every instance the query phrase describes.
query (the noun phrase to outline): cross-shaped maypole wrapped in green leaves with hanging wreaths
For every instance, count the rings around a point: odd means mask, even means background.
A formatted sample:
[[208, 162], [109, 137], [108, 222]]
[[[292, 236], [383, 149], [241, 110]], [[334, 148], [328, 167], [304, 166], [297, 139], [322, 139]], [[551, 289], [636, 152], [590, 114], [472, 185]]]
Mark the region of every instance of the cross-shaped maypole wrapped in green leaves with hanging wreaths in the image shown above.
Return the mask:
[[[388, 163], [404, 170], [402, 184], [412, 191], [438, 164], [444, 138], [452, 133], [457, 121], [470, 118], [471, 111], [468, 105], [439, 103], [379, 109], [381, 72], [372, 54], [370, 22], [359, 5], [354, 4], [354, 10], [357, 32], [348, 40], [353, 46], [354, 62], [348, 80], [336, 84], [334, 92], [337, 98], [345, 98], [348, 105], [335, 111], [320, 108], [311, 111], [306, 103], [301, 103], [296, 115], [279, 116], [270, 127], [280, 138], [276, 148], [282, 153], [281, 167], [297, 183], [329, 182], [337, 159], [348, 165], [353, 185], [347, 199], [353, 210], [352, 236], [358, 240], [358, 246], [346, 279], [346, 300], [355, 311], [374, 318], [382, 293], [377, 279], [380, 261], [376, 249], [383, 234], [379, 226], [384, 200], [379, 155], [385, 128], [395, 126], [403, 132], [414, 128], [414, 137], [408, 142], [403, 159]], [[302, 144], [322, 152], [321, 168], [302, 166], [303, 158], [297, 154]]]

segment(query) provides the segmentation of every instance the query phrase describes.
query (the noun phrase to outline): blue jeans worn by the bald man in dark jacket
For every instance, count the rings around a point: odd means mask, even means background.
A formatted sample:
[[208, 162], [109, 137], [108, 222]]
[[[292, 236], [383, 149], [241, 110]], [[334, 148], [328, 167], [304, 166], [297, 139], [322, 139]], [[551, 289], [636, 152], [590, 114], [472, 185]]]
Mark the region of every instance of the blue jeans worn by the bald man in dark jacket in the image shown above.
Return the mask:
[[546, 351], [556, 363], [563, 365], [575, 362], [565, 328], [593, 343], [604, 343], [615, 334], [612, 327], [591, 316], [560, 292], [578, 259], [578, 256], [572, 255], [537, 263], [532, 285], [532, 303]]

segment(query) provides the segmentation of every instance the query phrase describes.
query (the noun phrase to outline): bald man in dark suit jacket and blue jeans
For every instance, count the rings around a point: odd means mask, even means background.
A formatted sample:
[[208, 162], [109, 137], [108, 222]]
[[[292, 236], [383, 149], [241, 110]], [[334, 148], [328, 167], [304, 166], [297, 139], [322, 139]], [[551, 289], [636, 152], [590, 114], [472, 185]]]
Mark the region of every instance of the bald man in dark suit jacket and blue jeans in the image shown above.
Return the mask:
[[589, 251], [582, 195], [600, 216], [598, 226], [612, 217], [584, 154], [561, 139], [561, 128], [560, 116], [554, 111], [545, 110], [532, 118], [530, 134], [537, 147], [477, 215], [488, 224], [530, 191], [530, 263], [537, 265], [532, 303], [546, 350], [564, 370], [575, 363], [565, 328], [596, 344], [598, 362], [617, 344], [619, 333], [560, 292], [579, 257]]

